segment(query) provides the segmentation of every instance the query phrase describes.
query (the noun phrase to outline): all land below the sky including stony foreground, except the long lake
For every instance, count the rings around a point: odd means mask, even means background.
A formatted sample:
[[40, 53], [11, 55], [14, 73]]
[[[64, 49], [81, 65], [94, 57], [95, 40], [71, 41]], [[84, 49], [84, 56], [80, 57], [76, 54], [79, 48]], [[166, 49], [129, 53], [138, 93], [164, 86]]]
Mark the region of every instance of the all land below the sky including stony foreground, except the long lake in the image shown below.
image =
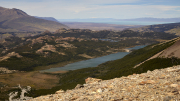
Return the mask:
[[[33, 101], [180, 100], [180, 23], [59, 23], [4, 7], [0, 16], [0, 100], [24, 100], [22, 92]], [[127, 49], [134, 46], [144, 48]], [[41, 72], [117, 52], [129, 53], [96, 67]]]

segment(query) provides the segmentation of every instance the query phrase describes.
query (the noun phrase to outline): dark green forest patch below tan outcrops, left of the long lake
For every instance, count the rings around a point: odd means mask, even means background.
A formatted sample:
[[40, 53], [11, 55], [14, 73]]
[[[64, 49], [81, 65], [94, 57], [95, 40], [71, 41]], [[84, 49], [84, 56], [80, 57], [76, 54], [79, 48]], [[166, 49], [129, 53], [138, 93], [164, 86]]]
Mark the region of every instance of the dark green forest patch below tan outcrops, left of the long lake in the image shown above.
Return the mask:
[[20, 55], [23, 56], [22, 58], [17, 58], [15, 56], [11, 57], [6, 61], [0, 62], [0, 66], [11, 70], [32, 71], [37, 66], [46, 66], [64, 61], [84, 59], [83, 57], [76, 55], [64, 56], [53, 52], [50, 54], [50, 56], [43, 57], [36, 53], [20, 53]]

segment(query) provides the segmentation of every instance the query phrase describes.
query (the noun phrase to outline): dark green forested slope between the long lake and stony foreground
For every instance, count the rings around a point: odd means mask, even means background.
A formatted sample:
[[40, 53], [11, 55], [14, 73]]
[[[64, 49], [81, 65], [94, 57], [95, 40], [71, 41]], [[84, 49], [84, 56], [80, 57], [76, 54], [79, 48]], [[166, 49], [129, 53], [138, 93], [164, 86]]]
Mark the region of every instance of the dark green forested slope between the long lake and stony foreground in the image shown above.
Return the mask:
[[[133, 51], [122, 59], [109, 61], [98, 67], [84, 68], [74, 71], [69, 71], [65, 74], [59, 74], [59, 86], [52, 89], [33, 90], [30, 96], [36, 97], [40, 95], [55, 93], [59, 89], [67, 90], [74, 88], [77, 84], [85, 83], [87, 77], [95, 77], [100, 79], [112, 79], [115, 77], [128, 76], [133, 73], [144, 73], [148, 70], [166, 68], [180, 64], [180, 59], [177, 58], [155, 58], [145, 62], [143, 65], [133, 68], [135, 65], [145, 61], [156, 53], [171, 46], [173, 42], [168, 42], [163, 45], [149, 45], [143, 49]], [[151, 64], [151, 65], [150, 65]], [[152, 65], [153, 64], [153, 65]]]

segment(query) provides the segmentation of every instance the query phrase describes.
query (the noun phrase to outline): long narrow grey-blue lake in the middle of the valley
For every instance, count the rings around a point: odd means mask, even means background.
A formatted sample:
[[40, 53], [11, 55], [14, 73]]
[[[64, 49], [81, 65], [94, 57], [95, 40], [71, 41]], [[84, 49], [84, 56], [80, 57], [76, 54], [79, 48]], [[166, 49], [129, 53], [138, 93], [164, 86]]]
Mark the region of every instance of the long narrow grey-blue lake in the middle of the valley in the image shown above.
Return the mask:
[[[135, 46], [135, 47], [128, 48], [128, 49], [129, 50], [140, 49], [140, 48], [144, 48], [145, 46], [146, 45]], [[126, 56], [127, 54], [129, 54], [129, 52], [113, 53], [113, 54], [98, 57], [98, 58], [93, 58], [93, 59], [89, 59], [89, 60], [84, 60], [84, 61], [71, 63], [71, 64], [68, 64], [68, 65], [65, 65], [64, 67], [56, 67], [56, 68], [50, 68], [50, 69], [47, 69], [47, 70], [42, 70], [41, 72], [68, 71], [68, 70], [76, 70], [76, 69], [81, 69], [81, 68], [96, 67], [96, 66], [98, 66], [98, 65], [100, 65], [102, 63], [105, 63], [107, 61], [121, 59], [124, 56]]]

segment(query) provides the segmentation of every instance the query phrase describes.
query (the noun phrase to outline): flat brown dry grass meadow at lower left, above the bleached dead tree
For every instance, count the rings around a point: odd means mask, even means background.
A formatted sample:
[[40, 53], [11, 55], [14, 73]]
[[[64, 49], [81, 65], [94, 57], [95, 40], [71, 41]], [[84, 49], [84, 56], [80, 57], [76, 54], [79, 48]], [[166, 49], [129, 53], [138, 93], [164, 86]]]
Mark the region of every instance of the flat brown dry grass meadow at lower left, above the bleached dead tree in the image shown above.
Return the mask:
[[21, 84], [21, 86], [31, 86], [36, 89], [49, 89], [58, 84], [59, 78], [56, 75], [39, 72], [23, 72], [1, 74], [0, 81], [10, 87]]

